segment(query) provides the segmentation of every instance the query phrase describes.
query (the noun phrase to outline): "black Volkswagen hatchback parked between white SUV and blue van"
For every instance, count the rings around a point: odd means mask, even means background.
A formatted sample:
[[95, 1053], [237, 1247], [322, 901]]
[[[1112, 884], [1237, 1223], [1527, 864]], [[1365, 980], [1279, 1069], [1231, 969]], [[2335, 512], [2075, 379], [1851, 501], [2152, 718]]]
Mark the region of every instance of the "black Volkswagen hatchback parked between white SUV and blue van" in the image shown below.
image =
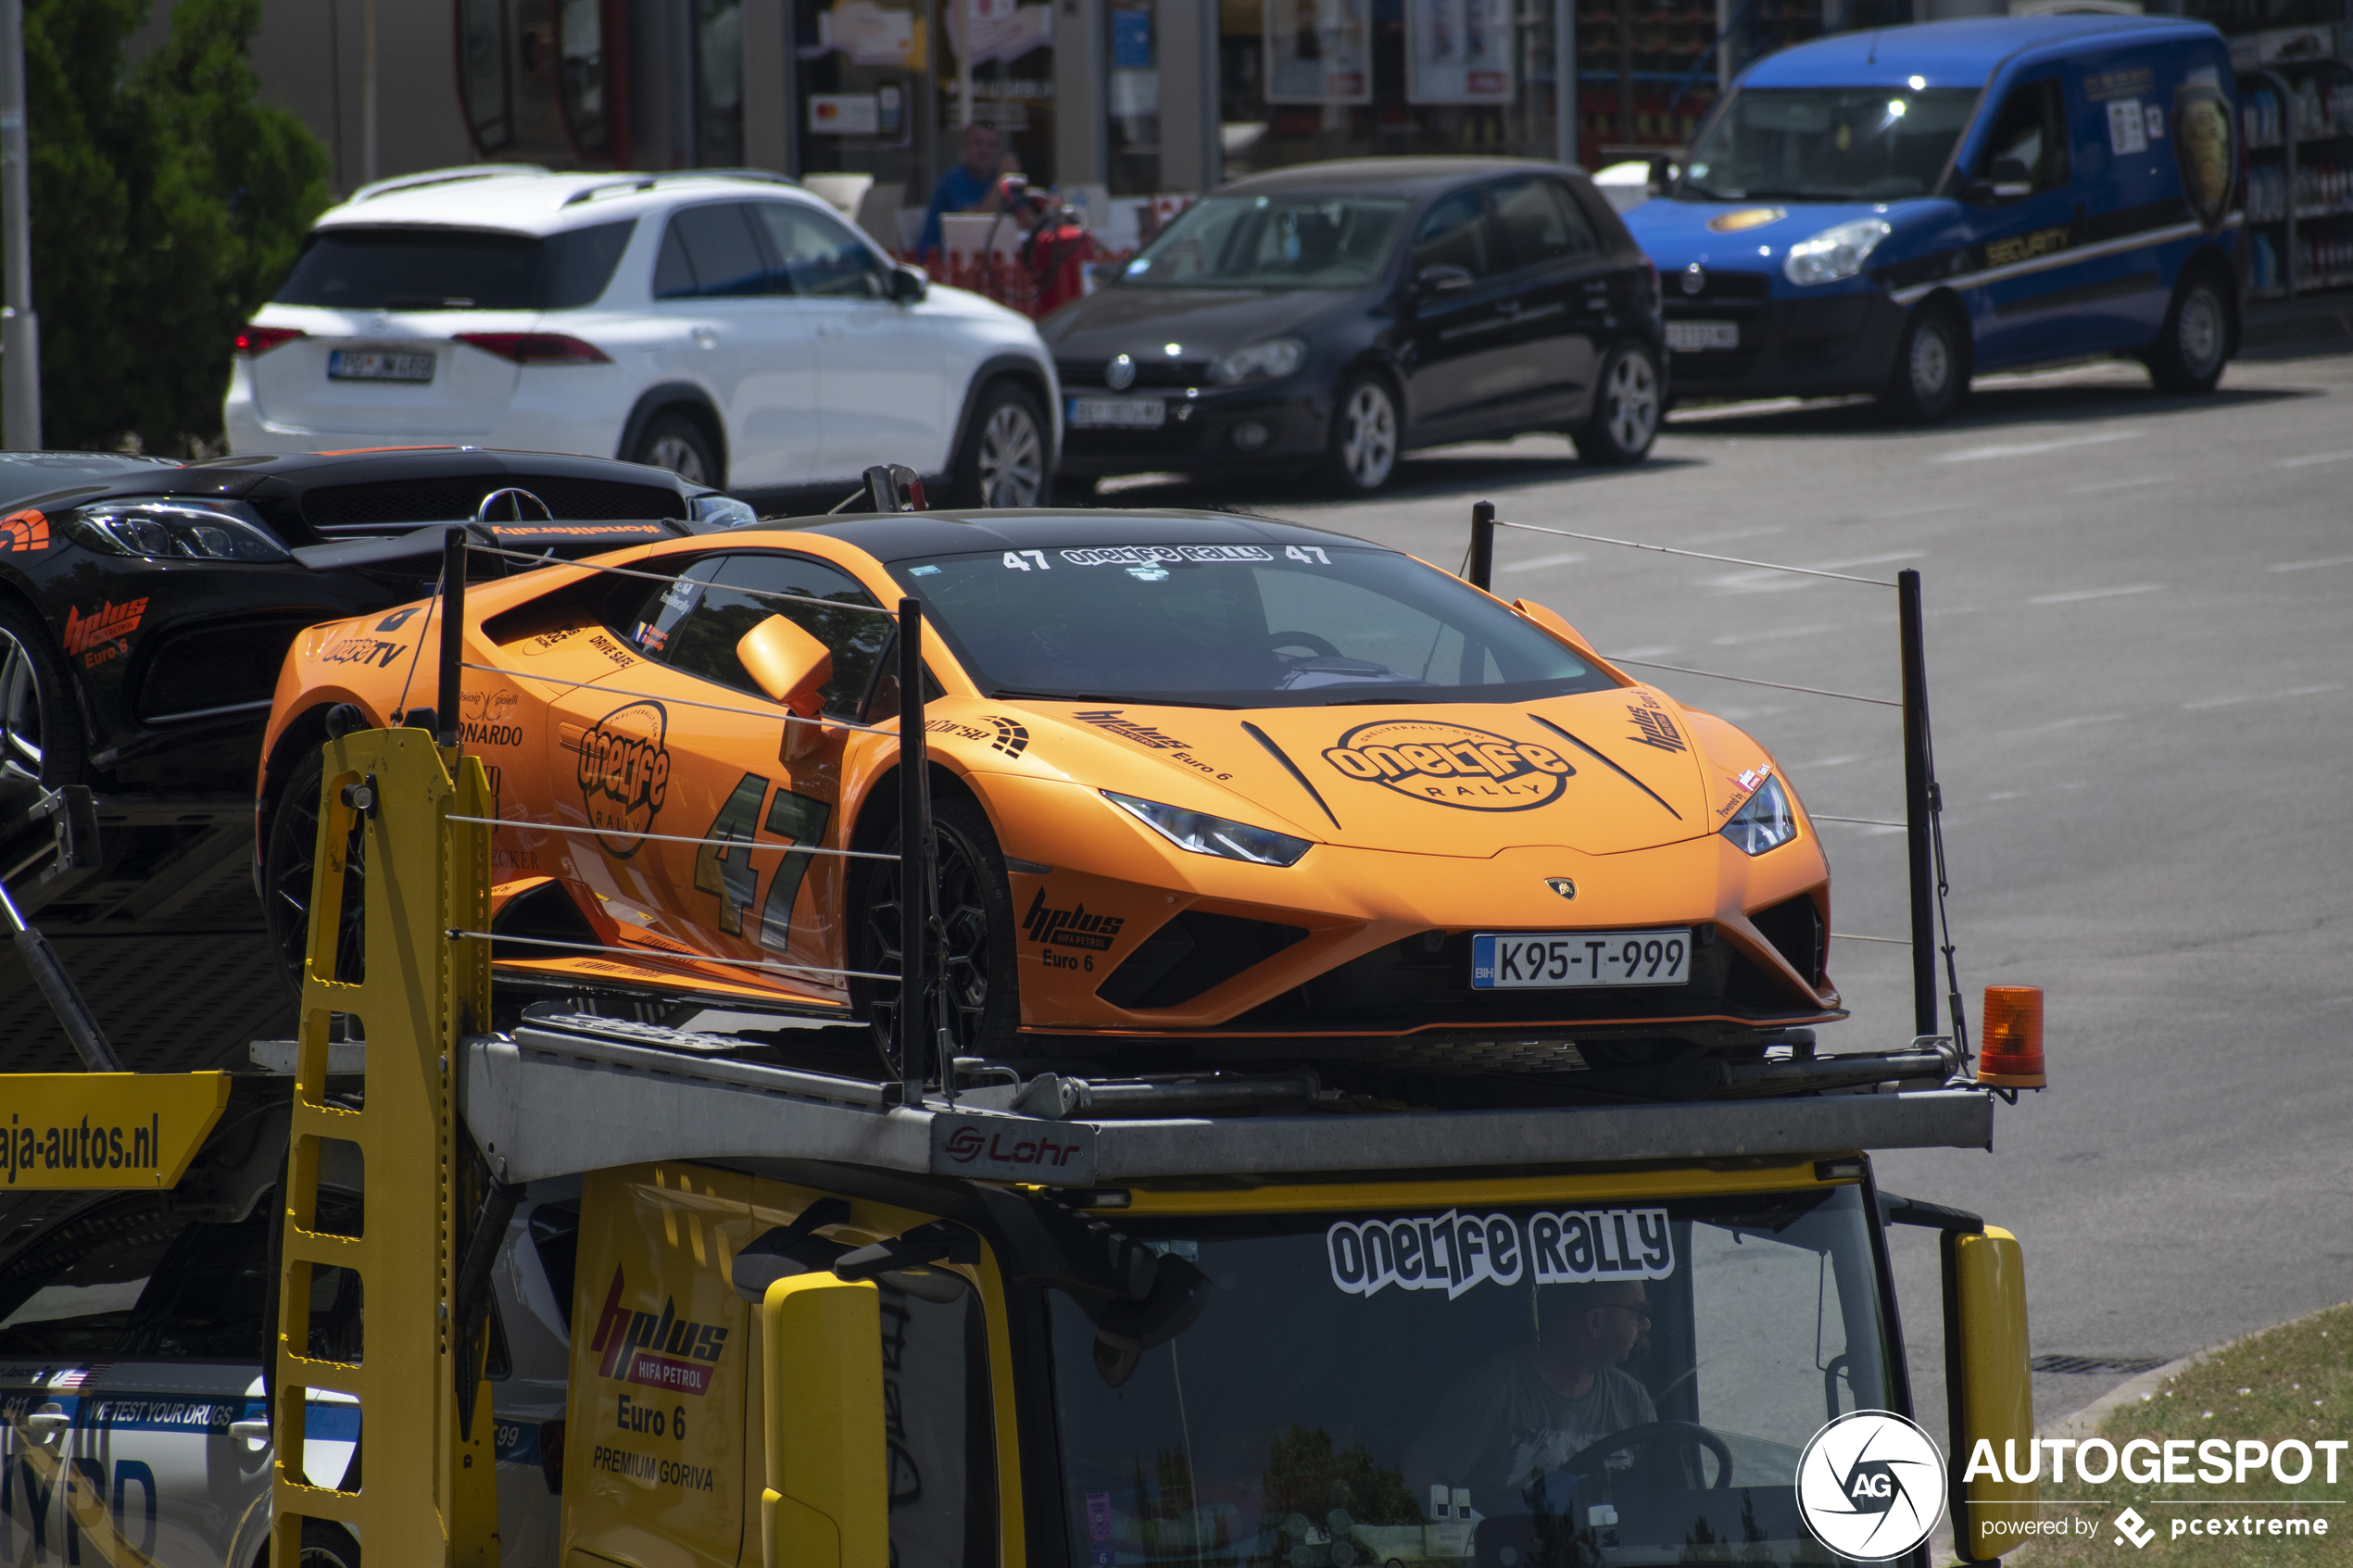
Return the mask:
[[1320, 468], [1555, 430], [1638, 463], [1666, 407], [1659, 275], [1562, 165], [1372, 158], [1202, 197], [1040, 329], [1061, 475]]

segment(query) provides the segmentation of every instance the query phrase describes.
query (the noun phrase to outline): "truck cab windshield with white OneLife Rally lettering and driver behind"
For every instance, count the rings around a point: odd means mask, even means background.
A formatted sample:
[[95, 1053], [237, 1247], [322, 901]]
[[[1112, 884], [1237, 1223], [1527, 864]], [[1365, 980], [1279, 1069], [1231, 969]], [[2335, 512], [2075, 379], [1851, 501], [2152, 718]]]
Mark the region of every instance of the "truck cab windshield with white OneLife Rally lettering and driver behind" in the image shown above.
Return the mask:
[[1054, 1302], [1073, 1563], [1833, 1563], [1795, 1472], [1889, 1408], [1859, 1187], [1129, 1222], [1214, 1281], [1120, 1387]]

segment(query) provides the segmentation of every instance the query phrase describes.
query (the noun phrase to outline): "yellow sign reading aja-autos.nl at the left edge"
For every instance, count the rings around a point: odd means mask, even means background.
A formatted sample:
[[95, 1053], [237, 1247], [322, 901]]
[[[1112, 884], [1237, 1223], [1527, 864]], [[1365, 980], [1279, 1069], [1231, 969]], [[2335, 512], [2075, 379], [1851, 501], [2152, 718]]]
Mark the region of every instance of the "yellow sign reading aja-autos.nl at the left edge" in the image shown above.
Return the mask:
[[226, 1105], [226, 1072], [0, 1074], [0, 1182], [176, 1187]]

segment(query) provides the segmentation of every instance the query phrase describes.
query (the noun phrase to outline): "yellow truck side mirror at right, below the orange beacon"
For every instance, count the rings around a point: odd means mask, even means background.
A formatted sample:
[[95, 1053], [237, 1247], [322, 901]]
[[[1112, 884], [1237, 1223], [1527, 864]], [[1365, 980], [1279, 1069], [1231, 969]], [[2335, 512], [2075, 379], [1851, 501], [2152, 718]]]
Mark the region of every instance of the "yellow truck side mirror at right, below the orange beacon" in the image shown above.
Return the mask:
[[[1988, 1225], [1984, 1234], [1946, 1232], [1944, 1246], [1944, 1387], [1953, 1429], [1953, 1552], [1965, 1563], [1993, 1561], [2014, 1537], [1986, 1537], [1986, 1519], [2021, 1519], [2033, 1481], [2009, 1469], [2033, 1465], [2035, 1385], [2026, 1366], [2026, 1255], [2019, 1239]], [[1993, 1476], [1986, 1476], [1993, 1465]], [[1974, 1472], [1974, 1479], [1969, 1479]]]

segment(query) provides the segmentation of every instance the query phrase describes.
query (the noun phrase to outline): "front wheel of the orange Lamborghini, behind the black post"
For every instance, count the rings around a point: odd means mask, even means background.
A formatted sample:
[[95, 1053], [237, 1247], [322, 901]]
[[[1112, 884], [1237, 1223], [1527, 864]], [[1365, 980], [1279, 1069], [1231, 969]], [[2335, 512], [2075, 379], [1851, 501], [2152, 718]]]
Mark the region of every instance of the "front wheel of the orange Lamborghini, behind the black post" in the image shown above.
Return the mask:
[[[939, 919], [948, 929], [948, 964], [941, 976], [948, 1039], [958, 1056], [1005, 1056], [1021, 1027], [1021, 980], [1014, 952], [1014, 893], [1005, 879], [1005, 853], [988, 813], [969, 797], [932, 802], [932, 837], [939, 846]], [[892, 827], [885, 853], [899, 853]], [[864, 910], [852, 969], [899, 973], [899, 867], [868, 860]], [[899, 1072], [899, 987], [887, 980], [854, 980], [852, 999], [875, 1025], [875, 1048], [892, 1074]], [[936, 1063], [934, 1063], [936, 1070]]]

